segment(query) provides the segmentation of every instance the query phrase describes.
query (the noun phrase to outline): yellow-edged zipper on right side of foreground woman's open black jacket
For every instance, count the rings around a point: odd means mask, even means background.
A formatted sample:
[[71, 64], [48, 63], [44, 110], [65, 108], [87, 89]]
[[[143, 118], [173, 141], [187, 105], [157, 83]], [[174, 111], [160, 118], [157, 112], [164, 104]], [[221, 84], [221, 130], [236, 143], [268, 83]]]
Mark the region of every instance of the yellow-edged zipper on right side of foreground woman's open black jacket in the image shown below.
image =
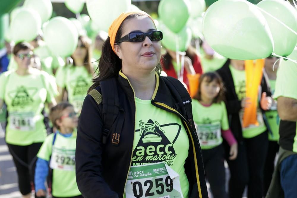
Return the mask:
[[197, 163], [197, 158], [196, 158], [196, 150], [195, 150], [195, 145], [194, 145], [194, 140], [193, 140], [193, 137], [192, 137], [192, 134], [191, 134], [191, 131], [190, 131], [190, 128], [186, 122], [186, 118], [184, 118], [184, 116], [182, 116], [180, 113], [178, 113], [178, 111], [176, 111], [175, 109], [169, 107], [168, 105], [164, 104], [164, 103], [161, 103], [161, 102], [154, 102], [155, 104], [158, 104], [162, 107], [165, 107], [173, 112], [175, 112], [176, 114], [178, 114], [181, 118], [183, 118], [184, 120], [184, 123], [186, 124], [187, 126], [187, 129], [189, 131], [189, 135], [191, 137], [191, 141], [192, 141], [192, 145], [193, 145], [193, 154], [194, 154], [194, 163], [195, 163], [195, 172], [196, 172], [196, 180], [197, 180], [197, 186], [198, 186], [198, 193], [199, 193], [199, 197], [202, 198], [202, 193], [201, 193], [201, 187], [200, 187], [200, 179], [199, 179], [199, 173], [198, 173], [198, 163]]

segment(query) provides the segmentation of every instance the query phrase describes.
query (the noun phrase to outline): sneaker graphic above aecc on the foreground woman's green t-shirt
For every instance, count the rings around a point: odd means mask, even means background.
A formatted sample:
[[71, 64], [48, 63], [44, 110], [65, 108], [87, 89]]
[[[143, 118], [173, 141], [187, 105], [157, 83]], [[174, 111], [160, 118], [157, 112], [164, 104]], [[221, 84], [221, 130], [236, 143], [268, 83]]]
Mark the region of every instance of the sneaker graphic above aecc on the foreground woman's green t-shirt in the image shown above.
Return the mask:
[[157, 121], [154, 123], [151, 119], [149, 119], [148, 122], [142, 122], [142, 120], [140, 120], [139, 126], [140, 136], [144, 133], [142, 138], [143, 143], [162, 141], [160, 131], [163, 133], [165, 133], [165, 131], [160, 129], [160, 124]]

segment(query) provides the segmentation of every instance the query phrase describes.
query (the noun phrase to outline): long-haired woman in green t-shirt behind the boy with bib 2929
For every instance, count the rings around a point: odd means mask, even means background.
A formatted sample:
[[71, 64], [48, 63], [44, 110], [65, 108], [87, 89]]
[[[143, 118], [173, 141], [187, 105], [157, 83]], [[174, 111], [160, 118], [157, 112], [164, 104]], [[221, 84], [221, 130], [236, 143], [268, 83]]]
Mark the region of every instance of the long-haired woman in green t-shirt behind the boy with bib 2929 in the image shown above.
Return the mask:
[[69, 102], [74, 106], [75, 112], [80, 113], [89, 87], [92, 84], [94, 65], [91, 64], [91, 41], [86, 36], [78, 37], [78, 45], [72, 54], [73, 62], [60, 67], [56, 72], [59, 97], [57, 102], [63, 100], [67, 91]]

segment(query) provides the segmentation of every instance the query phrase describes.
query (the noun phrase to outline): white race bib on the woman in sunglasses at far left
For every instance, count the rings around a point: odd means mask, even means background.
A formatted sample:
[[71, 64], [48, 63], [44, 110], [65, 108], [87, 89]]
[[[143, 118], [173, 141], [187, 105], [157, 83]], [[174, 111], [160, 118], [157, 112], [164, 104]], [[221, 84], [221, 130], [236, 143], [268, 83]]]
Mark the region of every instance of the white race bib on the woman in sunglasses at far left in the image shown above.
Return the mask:
[[33, 112], [10, 112], [9, 113], [10, 129], [20, 131], [35, 130], [35, 121]]

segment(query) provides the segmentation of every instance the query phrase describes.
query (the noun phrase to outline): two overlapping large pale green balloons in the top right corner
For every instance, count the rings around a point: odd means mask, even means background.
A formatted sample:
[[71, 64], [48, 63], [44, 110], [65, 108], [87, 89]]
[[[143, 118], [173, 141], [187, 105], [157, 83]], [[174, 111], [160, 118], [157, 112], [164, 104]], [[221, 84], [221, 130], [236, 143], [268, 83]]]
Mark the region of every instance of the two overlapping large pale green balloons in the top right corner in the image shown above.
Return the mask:
[[219, 54], [254, 60], [288, 56], [297, 44], [297, 11], [282, 0], [219, 0], [206, 11], [203, 34]]

